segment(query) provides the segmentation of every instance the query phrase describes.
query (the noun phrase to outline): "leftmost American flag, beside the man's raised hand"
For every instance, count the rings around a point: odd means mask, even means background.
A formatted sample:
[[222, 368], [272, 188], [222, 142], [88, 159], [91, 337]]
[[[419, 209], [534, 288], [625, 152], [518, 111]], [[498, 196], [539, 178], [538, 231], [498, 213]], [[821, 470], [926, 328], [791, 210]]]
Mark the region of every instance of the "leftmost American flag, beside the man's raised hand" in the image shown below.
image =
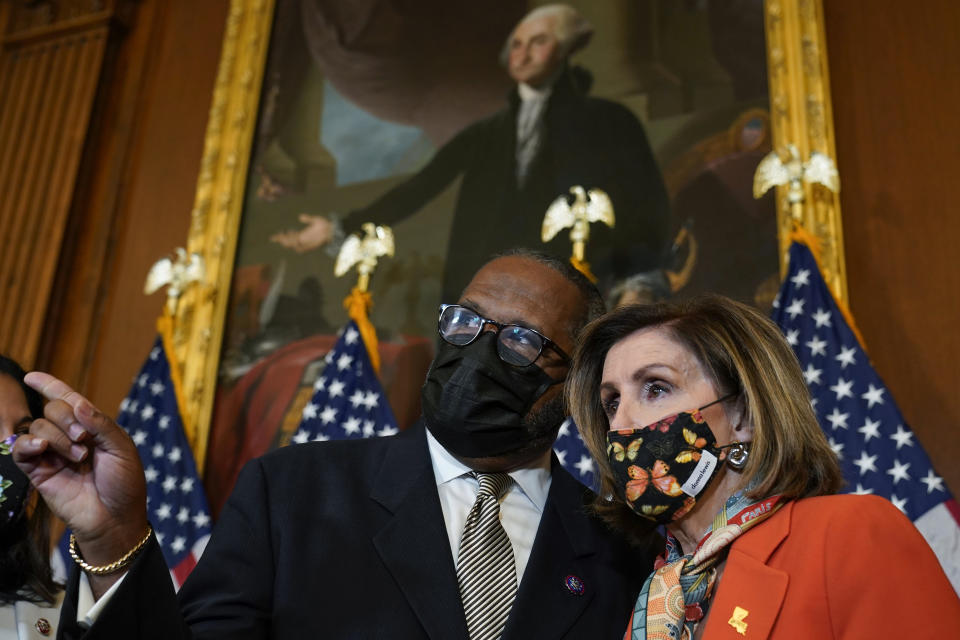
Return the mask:
[[120, 403], [117, 424], [137, 445], [147, 479], [150, 523], [179, 589], [210, 539], [211, 522], [161, 337]]

